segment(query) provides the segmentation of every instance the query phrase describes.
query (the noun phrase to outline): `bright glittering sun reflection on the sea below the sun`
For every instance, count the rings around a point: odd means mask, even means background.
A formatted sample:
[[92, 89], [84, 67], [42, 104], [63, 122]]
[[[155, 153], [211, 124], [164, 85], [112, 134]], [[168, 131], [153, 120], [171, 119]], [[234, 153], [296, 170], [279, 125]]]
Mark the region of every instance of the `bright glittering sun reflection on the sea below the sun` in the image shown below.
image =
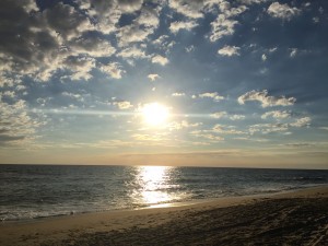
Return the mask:
[[134, 197], [145, 204], [157, 204], [169, 202], [174, 199], [167, 192], [169, 187], [169, 171], [174, 167], [168, 166], [140, 166], [138, 167], [137, 181], [140, 189]]

